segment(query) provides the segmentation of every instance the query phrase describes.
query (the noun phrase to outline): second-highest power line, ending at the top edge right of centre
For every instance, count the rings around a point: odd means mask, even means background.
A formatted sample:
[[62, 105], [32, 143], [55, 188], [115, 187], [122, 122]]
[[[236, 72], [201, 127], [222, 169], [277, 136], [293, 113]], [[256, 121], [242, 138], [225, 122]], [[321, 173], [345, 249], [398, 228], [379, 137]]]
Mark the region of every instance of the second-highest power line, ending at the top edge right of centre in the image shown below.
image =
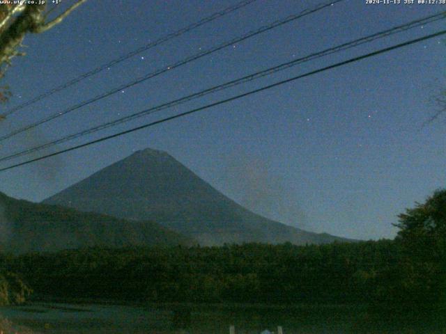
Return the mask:
[[174, 64], [171, 64], [171, 65], [168, 65], [168, 66], [164, 66], [164, 67], [162, 67], [162, 68], [160, 68], [158, 70], [155, 70], [154, 72], [145, 74], [143, 77], [139, 77], [139, 78], [135, 79], [134, 81], [131, 81], [128, 84], [124, 84], [122, 86], [119, 86], [118, 88], [113, 88], [112, 90], [109, 90], [106, 93], [101, 93], [100, 95], [97, 95], [97, 96], [95, 96], [95, 97], [93, 97], [93, 98], [91, 98], [89, 100], [85, 100], [83, 102], [79, 102], [78, 104], [75, 104], [74, 106], [70, 106], [70, 108], [68, 108], [68, 109], [66, 109], [64, 111], [61, 111], [59, 113], [53, 113], [52, 115], [50, 115], [50, 116], [48, 116], [46, 118], [43, 118], [41, 120], [38, 120], [38, 121], [32, 123], [31, 125], [26, 125], [26, 126], [20, 128], [20, 129], [16, 129], [15, 131], [10, 132], [9, 134], [6, 134], [4, 136], [0, 136], [0, 141], [3, 141], [5, 139], [7, 139], [7, 138], [15, 136], [16, 134], [20, 134], [20, 133], [22, 133], [22, 132], [24, 132], [26, 130], [32, 129], [33, 127], [37, 127], [38, 125], [42, 125], [42, 124], [44, 124], [46, 122], [49, 122], [50, 120], [54, 120], [56, 118], [59, 118], [59, 117], [61, 117], [63, 115], [66, 115], [67, 113], [70, 113], [71, 111], [75, 111], [75, 110], [80, 109], [80, 108], [82, 108], [84, 106], [87, 106], [87, 105], [89, 105], [89, 104], [91, 104], [93, 102], [96, 102], [98, 100], [102, 100], [105, 97], [109, 97], [110, 95], [114, 95], [114, 94], [116, 94], [118, 92], [121, 92], [122, 90], [130, 88], [130, 87], [135, 86], [137, 84], [141, 84], [141, 82], [143, 82], [143, 81], [146, 81], [146, 80], [151, 79], [153, 77], [157, 77], [158, 75], [160, 75], [160, 74], [162, 74], [164, 72], [167, 72], [169, 70], [173, 70], [176, 67], [183, 66], [183, 65], [185, 65], [187, 63], [190, 63], [192, 61], [196, 61], [197, 59], [202, 58], [203, 56], [208, 56], [209, 54], [213, 54], [216, 51], [224, 49], [225, 47], [229, 47], [229, 46], [234, 45], [234, 44], [236, 44], [238, 42], [242, 42], [243, 40], [247, 40], [248, 38], [252, 38], [255, 35], [259, 35], [260, 33], [264, 33], [266, 31], [270, 31], [271, 29], [275, 29], [278, 26], [282, 26], [282, 25], [284, 25], [286, 23], [295, 21], [296, 19], [300, 19], [301, 17], [304, 17], [306, 15], [309, 15], [309, 14], [312, 14], [312, 13], [316, 13], [319, 10], [322, 10], [323, 8], [326, 8], [326, 7], [329, 7], [329, 6], [333, 6], [334, 3], [339, 3], [341, 1], [345, 1], [345, 0], [331, 0], [328, 3], [326, 3], [326, 2], [325, 3], [320, 3], [320, 4], [318, 4], [317, 6], [314, 6], [311, 9], [302, 10], [302, 12], [300, 12], [298, 14], [290, 15], [288, 17], [285, 17], [284, 19], [280, 19], [280, 20], [277, 20], [275, 22], [272, 22], [271, 24], [268, 24], [268, 25], [265, 25], [265, 26], [261, 26], [261, 28], [256, 29], [254, 31], [249, 31], [248, 33], [245, 33], [245, 35], [242, 35], [241, 37], [233, 38], [232, 40], [229, 40], [229, 41], [226, 41], [226, 42], [222, 43], [221, 45], [217, 45], [216, 47], [212, 47], [212, 48], [210, 48], [208, 50], [201, 51], [198, 54], [194, 54], [192, 56], [184, 58], [183, 60], [178, 61], [178, 62], [176, 62]]

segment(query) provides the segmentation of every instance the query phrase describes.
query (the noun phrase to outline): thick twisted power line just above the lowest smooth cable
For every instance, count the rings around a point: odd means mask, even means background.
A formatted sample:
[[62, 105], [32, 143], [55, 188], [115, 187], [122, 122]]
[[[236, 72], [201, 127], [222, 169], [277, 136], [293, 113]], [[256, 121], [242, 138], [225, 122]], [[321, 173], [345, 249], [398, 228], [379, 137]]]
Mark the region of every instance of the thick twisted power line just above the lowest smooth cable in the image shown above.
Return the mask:
[[215, 93], [217, 91], [224, 90], [226, 88], [231, 88], [233, 86], [238, 86], [240, 84], [244, 84], [244, 83], [246, 83], [248, 81], [252, 81], [254, 79], [259, 79], [261, 77], [266, 77], [267, 75], [273, 74], [275, 72], [279, 72], [281, 70], [285, 70], [285, 69], [287, 69], [289, 67], [298, 65], [300, 63], [305, 63], [307, 61], [312, 61], [312, 60], [314, 60], [316, 58], [321, 58], [321, 57], [327, 56], [329, 54], [334, 54], [334, 53], [337, 53], [339, 51], [344, 51], [346, 49], [350, 49], [352, 47], [356, 47], [358, 45], [362, 45], [362, 44], [367, 43], [367, 42], [372, 42], [372, 41], [377, 40], [379, 38], [384, 38], [384, 37], [387, 37], [389, 35], [393, 35], [395, 33], [399, 33], [401, 31], [407, 31], [408, 29], [414, 29], [417, 26], [422, 26], [422, 25], [429, 24], [431, 22], [436, 22], [439, 19], [445, 19], [445, 15], [446, 15], [446, 12], [443, 11], [443, 12], [437, 13], [435, 15], [430, 15], [428, 17], [423, 17], [421, 19], [416, 19], [416, 20], [408, 22], [406, 24], [401, 24], [399, 26], [394, 26], [391, 29], [380, 31], [380, 32], [374, 33], [372, 35], [367, 35], [367, 36], [365, 36], [363, 38], [359, 38], [359, 39], [356, 39], [356, 40], [352, 40], [350, 42], [346, 42], [346, 43], [338, 45], [336, 47], [331, 47], [331, 48], [328, 48], [328, 49], [324, 49], [323, 51], [318, 51], [316, 53], [309, 54], [309, 55], [304, 56], [302, 58], [294, 59], [293, 61], [282, 63], [282, 64], [276, 65], [274, 67], [269, 67], [266, 70], [255, 72], [253, 74], [249, 74], [249, 75], [247, 75], [245, 77], [241, 77], [239, 79], [235, 79], [235, 80], [232, 80], [232, 81], [227, 81], [224, 84], [220, 84], [218, 86], [213, 86], [213, 87], [208, 88], [206, 90], [201, 90], [200, 92], [193, 93], [193, 94], [187, 95], [185, 97], [181, 97], [181, 98], [179, 98], [177, 100], [173, 100], [171, 102], [167, 102], [167, 103], [164, 103], [164, 104], [153, 106], [153, 107], [151, 107], [149, 109], [145, 109], [143, 111], [139, 111], [137, 113], [133, 113], [132, 115], [124, 116], [122, 118], [118, 118], [117, 120], [112, 120], [112, 121], [109, 121], [109, 122], [105, 122], [102, 125], [91, 127], [90, 129], [83, 130], [82, 132], [77, 132], [76, 134], [71, 134], [69, 136], [64, 136], [62, 138], [56, 139], [55, 141], [50, 141], [49, 143], [45, 143], [45, 144], [42, 144], [42, 145], [34, 146], [33, 148], [29, 148], [29, 149], [26, 149], [26, 150], [15, 152], [15, 153], [10, 154], [10, 155], [8, 155], [6, 157], [0, 158], [0, 161], [6, 161], [6, 160], [14, 159], [16, 157], [21, 157], [21, 156], [26, 155], [26, 154], [30, 154], [32, 152], [37, 152], [37, 151], [43, 150], [45, 148], [49, 148], [49, 147], [54, 146], [54, 145], [65, 143], [66, 141], [70, 141], [70, 140], [75, 139], [75, 138], [79, 138], [81, 136], [86, 136], [87, 134], [92, 134], [94, 132], [98, 132], [98, 131], [100, 131], [102, 129], [107, 129], [109, 127], [114, 127], [114, 126], [116, 126], [118, 124], [121, 124], [123, 122], [128, 122], [130, 120], [134, 120], [134, 119], [140, 118], [142, 116], [147, 116], [147, 115], [155, 113], [157, 111], [161, 111], [161, 110], [164, 110], [164, 109], [171, 108], [173, 106], [177, 106], [178, 104], [183, 104], [185, 102], [189, 102], [191, 100], [197, 99], [198, 97], [203, 97], [203, 96], [208, 95], [210, 93]]

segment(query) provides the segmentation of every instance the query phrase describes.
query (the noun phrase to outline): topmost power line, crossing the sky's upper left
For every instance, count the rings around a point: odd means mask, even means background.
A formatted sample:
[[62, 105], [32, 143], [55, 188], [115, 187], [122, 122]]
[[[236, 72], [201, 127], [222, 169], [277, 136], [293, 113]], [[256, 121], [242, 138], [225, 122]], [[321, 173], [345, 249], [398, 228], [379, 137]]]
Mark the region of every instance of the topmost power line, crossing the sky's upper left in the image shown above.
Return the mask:
[[151, 49], [153, 47], [156, 47], [157, 45], [161, 45], [164, 42], [167, 42], [173, 38], [176, 38], [180, 35], [183, 35], [184, 33], [187, 33], [189, 31], [192, 31], [194, 29], [197, 29], [199, 26], [203, 26], [204, 24], [207, 24], [209, 22], [214, 21], [215, 19], [218, 19], [219, 17], [222, 17], [224, 15], [227, 15], [229, 13], [232, 13], [240, 8], [243, 8], [250, 3], [253, 3], [257, 0], [243, 0], [239, 3], [236, 3], [233, 6], [229, 6], [227, 8], [224, 8], [223, 10], [220, 10], [220, 12], [213, 13], [212, 15], [208, 17], [204, 17], [203, 19], [200, 19], [197, 22], [194, 22], [190, 24], [189, 26], [185, 26], [182, 29], [179, 29], [177, 31], [174, 31], [173, 33], [169, 33], [167, 35], [162, 36], [161, 38], [158, 38], [157, 40], [148, 43], [147, 45], [144, 45], [142, 47], [139, 47], [138, 49], [134, 49], [133, 51], [128, 52], [128, 54], [124, 54], [123, 56], [120, 56], [119, 58], [116, 58], [112, 61], [109, 61], [109, 63], [105, 63], [103, 65], [100, 65], [96, 67], [95, 69], [86, 72], [84, 74], [79, 75], [79, 77], [75, 77], [74, 79], [71, 79], [70, 81], [67, 81], [64, 84], [61, 84], [60, 86], [56, 86], [50, 90], [47, 90], [45, 93], [42, 93], [40, 95], [37, 95], [36, 97], [33, 97], [31, 100], [26, 101], [22, 104], [19, 104], [18, 106], [15, 106], [14, 108], [8, 110], [6, 113], [3, 113], [3, 117], [9, 116], [12, 113], [15, 113], [16, 111], [19, 111], [20, 109], [23, 109], [26, 106], [30, 106], [31, 104], [34, 104], [40, 100], [45, 99], [45, 97], [48, 97], [50, 95], [53, 95], [54, 93], [58, 93], [61, 90], [64, 90], [74, 84], [77, 84], [79, 81], [82, 81], [84, 79], [87, 79], [94, 74], [98, 74], [99, 72], [102, 72], [103, 70], [106, 70], [109, 67], [112, 67], [114, 65], [117, 65], [118, 63], [122, 63], [123, 61], [126, 61], [129, 58], [132, 58], [133, 56], [136, 56], [137, 54], [141, 54], [141, 52], [147, 51], [148, 49]]

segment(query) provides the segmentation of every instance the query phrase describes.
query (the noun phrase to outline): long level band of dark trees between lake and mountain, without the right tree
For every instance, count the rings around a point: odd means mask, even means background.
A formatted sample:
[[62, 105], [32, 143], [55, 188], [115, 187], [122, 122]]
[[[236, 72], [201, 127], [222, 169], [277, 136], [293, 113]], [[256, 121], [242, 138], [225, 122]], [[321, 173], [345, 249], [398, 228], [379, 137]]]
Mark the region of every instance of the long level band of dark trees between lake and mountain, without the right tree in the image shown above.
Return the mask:
[[[345, 303], [380, 298], [392, 241], [212, 248], [88, 248], [16, 257], [37, 294], [155, 302]], [[396, 278], [392, 278], [396, 279]]]

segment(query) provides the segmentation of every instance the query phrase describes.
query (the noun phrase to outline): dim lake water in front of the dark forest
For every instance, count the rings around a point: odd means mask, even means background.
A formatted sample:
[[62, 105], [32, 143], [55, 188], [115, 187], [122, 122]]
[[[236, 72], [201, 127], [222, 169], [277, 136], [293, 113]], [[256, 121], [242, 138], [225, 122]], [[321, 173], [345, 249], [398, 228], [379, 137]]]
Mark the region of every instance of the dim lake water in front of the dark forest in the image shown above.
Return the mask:
[[[284, 334], [364, 333], [359, 327], [367, 319], [364, 305], [98, 305], [29, 303], [0, 308], [0, 314], [14, 324], [36, 333], [260, 333], [268, 328]], [[383, 325], [373, 333], [403, 333], [401, 328]], [[387, 327], [385, 327], [387, 326]], [[187, 332], [180, 328], [187, 327]], [[404, 331], [406, 332], [406, 331]], [[410, 329], [406, 332], [410, 333]], [[420, 331], [417, 331], [420, 333]]]

